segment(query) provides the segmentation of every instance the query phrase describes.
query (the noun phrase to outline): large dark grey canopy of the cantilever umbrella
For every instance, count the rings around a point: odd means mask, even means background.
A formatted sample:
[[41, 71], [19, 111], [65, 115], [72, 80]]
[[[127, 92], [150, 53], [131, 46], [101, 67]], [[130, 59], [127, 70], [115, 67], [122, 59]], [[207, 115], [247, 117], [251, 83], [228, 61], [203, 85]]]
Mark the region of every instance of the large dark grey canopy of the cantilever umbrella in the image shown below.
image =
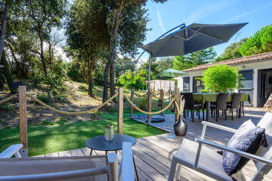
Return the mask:
[[152, 58], [186, 55], [228, 42], [246, 24], [248, 23], [218, 25], [193, 23], [141, 48]]

